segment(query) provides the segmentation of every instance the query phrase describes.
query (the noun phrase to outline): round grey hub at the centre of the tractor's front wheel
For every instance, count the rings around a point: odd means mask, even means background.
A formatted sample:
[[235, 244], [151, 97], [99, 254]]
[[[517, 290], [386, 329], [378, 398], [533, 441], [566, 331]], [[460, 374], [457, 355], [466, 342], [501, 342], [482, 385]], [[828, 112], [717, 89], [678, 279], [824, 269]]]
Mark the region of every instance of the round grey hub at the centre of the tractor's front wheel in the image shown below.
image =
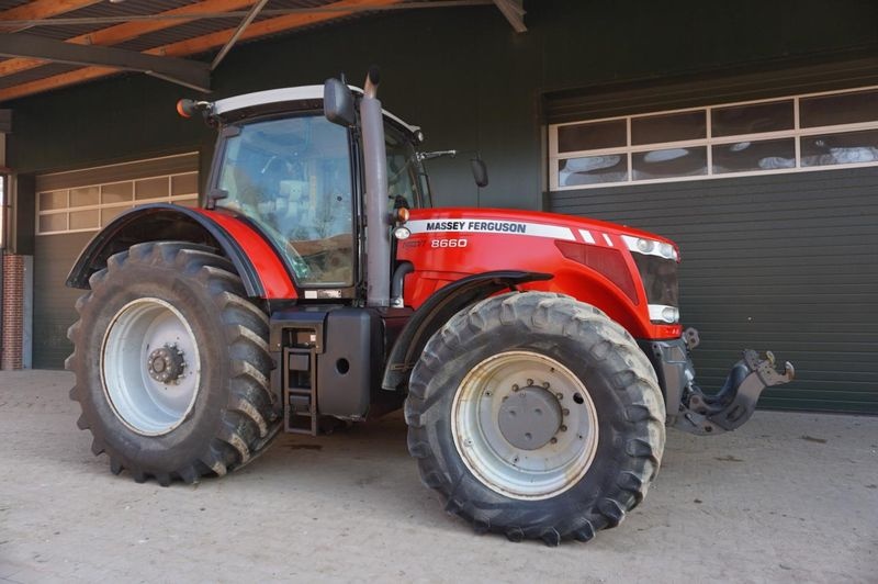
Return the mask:
[[521, 450], [548, 445], [561, 428], [562, 412], [555, 395], [529, 385], [503, 401], [498, 414], [500, 434]]

